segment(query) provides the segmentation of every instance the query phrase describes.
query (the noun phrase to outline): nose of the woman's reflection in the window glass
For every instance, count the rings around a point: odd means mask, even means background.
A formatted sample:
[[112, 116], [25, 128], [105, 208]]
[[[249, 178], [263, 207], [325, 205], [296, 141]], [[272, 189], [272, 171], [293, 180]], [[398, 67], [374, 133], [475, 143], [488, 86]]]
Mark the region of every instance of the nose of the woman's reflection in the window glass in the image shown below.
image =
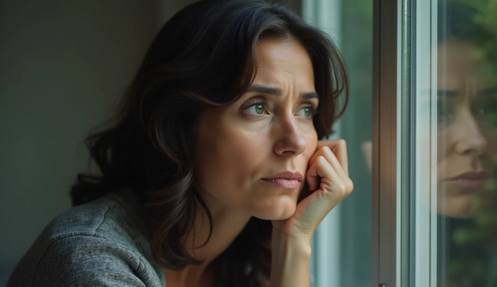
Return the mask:
[[479, 156], [485, 152], [489, 143], [473, 115], [468, 113], [464, 119], [460, 120], [460, 125], [456, 129], [459, 133], [455, 145], [457, 153]]

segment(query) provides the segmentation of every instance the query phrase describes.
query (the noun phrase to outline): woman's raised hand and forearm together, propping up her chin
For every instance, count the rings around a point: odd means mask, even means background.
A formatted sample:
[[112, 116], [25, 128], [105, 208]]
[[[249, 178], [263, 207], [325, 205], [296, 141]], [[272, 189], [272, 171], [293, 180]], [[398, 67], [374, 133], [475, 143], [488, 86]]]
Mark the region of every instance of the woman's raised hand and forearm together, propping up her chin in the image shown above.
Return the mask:
[[319, 222], [352, 192], [343, 140], [320, 141], [306, 173], [308, 189], [295, 213], [272, 220], [270, 287], [309, 287], [311, 237]]

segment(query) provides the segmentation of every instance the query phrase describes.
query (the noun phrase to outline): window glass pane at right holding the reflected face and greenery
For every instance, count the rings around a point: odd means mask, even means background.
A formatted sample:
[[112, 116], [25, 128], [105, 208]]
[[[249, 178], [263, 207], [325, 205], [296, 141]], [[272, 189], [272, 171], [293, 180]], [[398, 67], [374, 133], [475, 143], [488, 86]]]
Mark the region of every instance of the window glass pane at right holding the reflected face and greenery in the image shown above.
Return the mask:
[[[497, 286], [497, 2], [439, 0], [437, 286]], [[433, 161], [432, 161], [433, 162]], [[433, 167], [432, 167], [433, 168]], [[431, 262], [431, 264], [435, 264]]]

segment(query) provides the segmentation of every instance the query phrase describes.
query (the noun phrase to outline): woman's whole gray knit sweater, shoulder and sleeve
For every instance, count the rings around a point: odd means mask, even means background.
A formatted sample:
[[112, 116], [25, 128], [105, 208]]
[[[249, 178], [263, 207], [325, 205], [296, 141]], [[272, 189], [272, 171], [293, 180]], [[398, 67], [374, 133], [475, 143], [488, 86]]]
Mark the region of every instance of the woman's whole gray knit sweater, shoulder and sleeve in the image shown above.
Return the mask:
[[129, 190], [74, 207], [43, 230], [6, 287], [165, 287]]

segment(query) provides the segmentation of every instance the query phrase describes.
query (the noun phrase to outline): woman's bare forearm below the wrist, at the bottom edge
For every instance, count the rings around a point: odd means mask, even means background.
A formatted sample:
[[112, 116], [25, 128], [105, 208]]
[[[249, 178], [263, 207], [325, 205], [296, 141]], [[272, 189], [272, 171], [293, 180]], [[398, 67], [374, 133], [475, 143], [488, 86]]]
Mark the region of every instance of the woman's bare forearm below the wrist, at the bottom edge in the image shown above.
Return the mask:
[[273, 231], [269, 287], [309, 287], [311, 245]]

